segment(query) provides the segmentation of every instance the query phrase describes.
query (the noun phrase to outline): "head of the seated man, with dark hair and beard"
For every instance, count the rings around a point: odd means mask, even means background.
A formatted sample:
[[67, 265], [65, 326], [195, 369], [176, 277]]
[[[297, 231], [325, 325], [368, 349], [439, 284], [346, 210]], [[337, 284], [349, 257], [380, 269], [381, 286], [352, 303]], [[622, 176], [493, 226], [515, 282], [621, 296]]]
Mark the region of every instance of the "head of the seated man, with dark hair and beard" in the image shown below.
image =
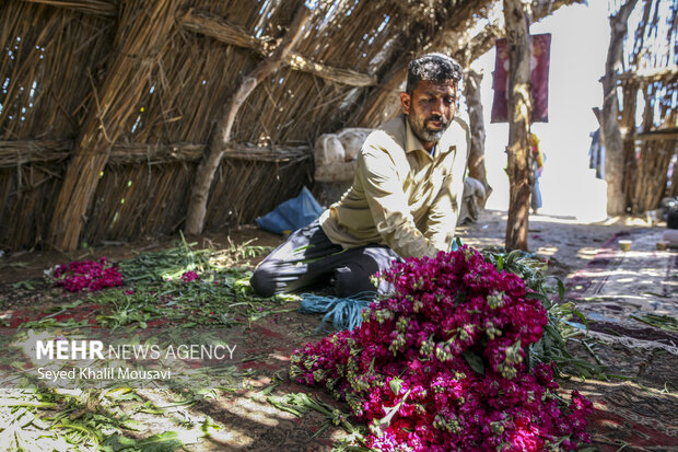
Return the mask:
[[402, 111], [426, 150], [441, 139], [454, 117], [461, 66], [443, 54], [426, 54], [408, 67]]

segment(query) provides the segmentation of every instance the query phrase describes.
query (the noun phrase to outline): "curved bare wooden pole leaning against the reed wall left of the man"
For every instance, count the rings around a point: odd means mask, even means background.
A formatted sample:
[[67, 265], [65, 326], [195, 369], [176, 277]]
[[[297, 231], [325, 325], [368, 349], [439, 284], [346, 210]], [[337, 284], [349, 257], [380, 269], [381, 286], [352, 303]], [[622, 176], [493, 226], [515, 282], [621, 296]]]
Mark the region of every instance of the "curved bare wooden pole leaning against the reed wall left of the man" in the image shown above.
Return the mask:
[[261, 81], [284, 63], [288, 54], [301, 37], [304, 24], [309, 16], [311, 10], [302, 4], [296, 11], [288, 33], [280, 45], [276, 47], [270, 58], [259, 63], [243, 79], [233, 96], [231, 96], [229, 102], [224, 105], [223, 114], [210, 139], [209, 152], [200, 161], [196, 171], [196, 179], [191, 189], [186, 224], [184, 228], [187, 234], [199, 234], [202, 232], [210, 187], [212, 186], [212, 181], [214, 179], [214, 174], [219, 169], [221, 159], [231, 141], [231, 129], [241, 106]]

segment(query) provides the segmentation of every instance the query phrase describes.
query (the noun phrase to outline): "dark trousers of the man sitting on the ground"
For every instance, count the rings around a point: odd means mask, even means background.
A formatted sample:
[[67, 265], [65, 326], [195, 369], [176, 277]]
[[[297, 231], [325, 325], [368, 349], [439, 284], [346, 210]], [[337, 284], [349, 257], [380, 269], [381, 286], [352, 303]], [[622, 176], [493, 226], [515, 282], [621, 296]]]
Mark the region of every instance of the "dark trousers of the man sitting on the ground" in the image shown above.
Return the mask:
[[389, 285], [376, 288], [371, 276], [390, 267], [400, 257], [384, 245], [343, 248], [329, 241], [315, 220], [290, 235], [255, 269], [249, 282], [260, 297], [293, 292], [313, 286], [334, 286], [337, 297], [362, 292], [387, 293]]

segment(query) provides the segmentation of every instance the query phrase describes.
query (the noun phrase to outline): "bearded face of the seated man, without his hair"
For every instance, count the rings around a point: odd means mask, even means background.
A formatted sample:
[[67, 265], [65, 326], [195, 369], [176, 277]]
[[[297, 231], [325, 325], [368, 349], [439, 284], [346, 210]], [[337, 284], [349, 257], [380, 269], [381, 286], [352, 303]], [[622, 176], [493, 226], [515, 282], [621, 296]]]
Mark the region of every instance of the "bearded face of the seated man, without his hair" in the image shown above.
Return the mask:
[[408, 123], [428, 151], [449, 126], [456, 102], [457, 86], [454, 80], [421, 80], [411, 95], [400, 93]]

